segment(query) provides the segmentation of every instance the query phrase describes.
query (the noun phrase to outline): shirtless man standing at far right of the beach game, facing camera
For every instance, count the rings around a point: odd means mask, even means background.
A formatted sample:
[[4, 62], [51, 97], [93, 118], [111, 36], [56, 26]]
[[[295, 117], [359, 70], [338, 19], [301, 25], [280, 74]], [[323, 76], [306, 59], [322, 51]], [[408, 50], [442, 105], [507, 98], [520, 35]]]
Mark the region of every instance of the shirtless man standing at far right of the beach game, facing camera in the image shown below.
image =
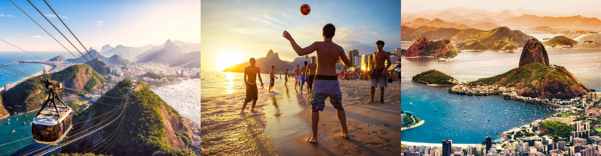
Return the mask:
[[[390, 56], [382, 48], [384, 47], [384, 41], [376, 41], [377, 52], [374, 52], [373, 69], [371, 69], [371, 101], [374, 101], [374, 94], [376, 93], [376, 87], [380, 87], [380, 103], [384, 102], [384, 88], [388, 87], [386, 82], [386, 73], [392, 63], [390, 62]], [[384, 61], [388, 61], [386, 67], [384, 67]]]

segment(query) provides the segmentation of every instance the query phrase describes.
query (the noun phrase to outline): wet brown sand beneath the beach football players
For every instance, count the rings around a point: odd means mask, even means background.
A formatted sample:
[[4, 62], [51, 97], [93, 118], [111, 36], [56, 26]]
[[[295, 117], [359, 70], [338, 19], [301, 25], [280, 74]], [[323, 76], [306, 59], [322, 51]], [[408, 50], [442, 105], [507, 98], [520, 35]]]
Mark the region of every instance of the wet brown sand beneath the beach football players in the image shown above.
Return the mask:
[[[265, 134], [278, 147], [278, 155], [400, 155], [400, 85], [390, 84], [385, 91], [385, 103], [371, 103], [370, 82], [340, 80], [343, 107], [346, 112], [349, 139], [340, 136], [340, 121], [336, 110], [326, 100], [320, 112], [319, 143], [308, 143], [311, 136], [311, 104], [304, 94], [294, 89], [294, 83], [276, 80], [280, 94], [263, 107], [267, 125]], [[291, 84], [291, 85], [290, 85]], [[376, 88], [375, 99], [379, 100]]]

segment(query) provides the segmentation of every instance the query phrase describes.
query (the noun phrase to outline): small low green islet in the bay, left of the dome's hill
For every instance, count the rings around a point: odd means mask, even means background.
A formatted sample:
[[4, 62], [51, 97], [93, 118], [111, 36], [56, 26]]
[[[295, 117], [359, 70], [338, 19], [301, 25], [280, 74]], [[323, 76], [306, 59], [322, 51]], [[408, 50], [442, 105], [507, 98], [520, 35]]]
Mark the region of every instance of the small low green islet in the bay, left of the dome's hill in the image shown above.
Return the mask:
[[455, 78], [448, 76], [438, 70], [429, 70], [413, 76], [412, 81], [424, 83], [427, 85], [454, 85]]

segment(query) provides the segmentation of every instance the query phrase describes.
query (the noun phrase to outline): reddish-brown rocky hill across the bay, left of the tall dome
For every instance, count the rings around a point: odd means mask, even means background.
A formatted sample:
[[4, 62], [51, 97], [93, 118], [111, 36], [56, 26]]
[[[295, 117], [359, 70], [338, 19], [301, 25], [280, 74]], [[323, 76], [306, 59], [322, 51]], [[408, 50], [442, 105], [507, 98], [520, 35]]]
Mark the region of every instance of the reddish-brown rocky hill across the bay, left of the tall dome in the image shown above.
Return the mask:
[[433, 56], [436, 58], [454, 58], [461, 53], [450, 40], [430, 41], [428, 38], [419, 38], [407, 49], [403, 56]]

